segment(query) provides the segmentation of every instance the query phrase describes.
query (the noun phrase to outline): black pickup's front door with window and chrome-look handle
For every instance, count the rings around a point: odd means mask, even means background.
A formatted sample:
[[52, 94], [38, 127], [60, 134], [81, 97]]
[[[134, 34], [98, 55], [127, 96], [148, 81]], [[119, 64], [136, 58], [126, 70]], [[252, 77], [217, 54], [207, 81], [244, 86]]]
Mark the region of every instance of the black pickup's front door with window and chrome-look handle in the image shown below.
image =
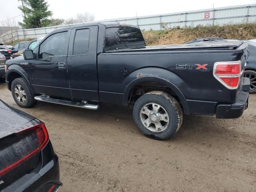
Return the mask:
[[30, 81], [37, 94], [71, 98], [67, 72], [70, 30], [56, 32], [40, 43], [30, 61]]

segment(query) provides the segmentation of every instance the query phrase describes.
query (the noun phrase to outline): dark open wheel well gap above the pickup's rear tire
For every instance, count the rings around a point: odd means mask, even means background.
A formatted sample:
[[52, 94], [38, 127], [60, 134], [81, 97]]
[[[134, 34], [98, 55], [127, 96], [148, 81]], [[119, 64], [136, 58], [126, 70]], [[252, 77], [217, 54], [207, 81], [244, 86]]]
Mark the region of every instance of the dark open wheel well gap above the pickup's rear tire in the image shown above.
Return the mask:
[[144, 82], [140, 82], [140, 83], [136, 84], [129, 93], [128, 104], [134, 105], [134, 103], [140, 96], [142, 96], [150, 91], [166, 92], [166, 93], [170, 94], [171, 96], [173, 96], [179, 102], [180, 106], [182, 107], [180, 98], [176, 95], [176, 93], [172, 89], [170, 89], [165, 84], [162, 84], [159, 82], [154, 82], [154, 81], [144, 81]]

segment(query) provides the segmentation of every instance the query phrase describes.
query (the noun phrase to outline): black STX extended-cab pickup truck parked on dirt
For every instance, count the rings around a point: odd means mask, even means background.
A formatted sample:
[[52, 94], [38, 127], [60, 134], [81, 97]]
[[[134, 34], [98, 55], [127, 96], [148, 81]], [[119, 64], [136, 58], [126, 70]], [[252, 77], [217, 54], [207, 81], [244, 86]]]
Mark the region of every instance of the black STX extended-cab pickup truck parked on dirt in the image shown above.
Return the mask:
[[146, 46], [137, 26], [118, 22], [69, 26], [6, 62], [15, 102], [36, 100], [86, 109], [101, 102], [133, 106], [140, 131], [173, 136], [183, 114], [238, 118], [248, 106], [248, 57], [242, 40]]

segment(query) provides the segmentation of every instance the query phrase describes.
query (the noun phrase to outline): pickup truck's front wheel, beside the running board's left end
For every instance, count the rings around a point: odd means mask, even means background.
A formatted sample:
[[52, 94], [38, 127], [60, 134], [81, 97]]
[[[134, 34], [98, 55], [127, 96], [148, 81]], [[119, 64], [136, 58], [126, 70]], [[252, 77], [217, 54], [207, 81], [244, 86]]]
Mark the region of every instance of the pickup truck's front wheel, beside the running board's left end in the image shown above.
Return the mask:
[[12, 97], [18, 106], [30, 108], [36, 104], [32, 90], [23, 78], [14, 79], [11, 86]]

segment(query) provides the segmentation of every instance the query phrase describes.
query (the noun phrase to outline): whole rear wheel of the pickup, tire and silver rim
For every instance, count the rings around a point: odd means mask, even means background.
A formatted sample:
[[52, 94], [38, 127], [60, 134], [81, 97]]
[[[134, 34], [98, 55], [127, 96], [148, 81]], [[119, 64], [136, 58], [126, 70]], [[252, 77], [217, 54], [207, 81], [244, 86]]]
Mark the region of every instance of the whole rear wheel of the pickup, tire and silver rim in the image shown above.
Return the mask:
[[178, 101], [162, 91], [144, 94], [133, 108], [133, 119], [139, 130], [157, 140], [166, 140], [176, 134], [182, 117]]

